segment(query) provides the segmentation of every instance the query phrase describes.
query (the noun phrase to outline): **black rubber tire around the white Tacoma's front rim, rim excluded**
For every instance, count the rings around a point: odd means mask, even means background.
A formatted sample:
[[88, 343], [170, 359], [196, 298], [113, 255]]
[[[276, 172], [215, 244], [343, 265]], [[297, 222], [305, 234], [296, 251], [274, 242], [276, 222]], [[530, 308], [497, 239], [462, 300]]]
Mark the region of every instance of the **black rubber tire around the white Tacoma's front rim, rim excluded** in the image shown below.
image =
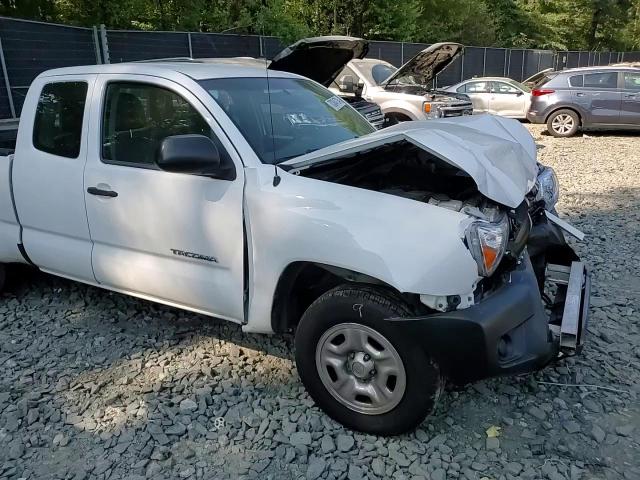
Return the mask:
[[[357, 307], [357, 308], [356, 308]], [[398, 435], [415, 429], [433, 412], [443, 388], [438, 366], [416, 339], [385, 320], [411, 315], [408, 305], [391, 292], [368, 286], [343, 285], [318, 298], [302, 316], [295, 336], [295, 358], [302, 383], [334, 420], [375, 435]], [[399, 403], [379, 414], [361, 413], [338, 401], [325, 387], [316, 364], [318, 344], [339, 324], [358, 324], [382, 335], [399, 355], [406, 382]]]

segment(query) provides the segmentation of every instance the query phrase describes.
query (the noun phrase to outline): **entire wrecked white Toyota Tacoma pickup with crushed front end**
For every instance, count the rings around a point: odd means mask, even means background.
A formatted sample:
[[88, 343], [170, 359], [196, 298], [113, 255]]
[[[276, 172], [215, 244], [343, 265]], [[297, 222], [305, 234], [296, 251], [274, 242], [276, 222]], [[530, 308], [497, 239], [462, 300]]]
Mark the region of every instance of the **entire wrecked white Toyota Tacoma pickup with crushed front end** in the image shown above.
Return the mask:
[[309, 393], [360, 431], [412, 429], [445, 379], [531, 371], [583, 341], [589, 276], [514, 120], [375, 131], [290, 73], [84, 66], [33, 82], [6, 153], [3, 273], [295, 332]]

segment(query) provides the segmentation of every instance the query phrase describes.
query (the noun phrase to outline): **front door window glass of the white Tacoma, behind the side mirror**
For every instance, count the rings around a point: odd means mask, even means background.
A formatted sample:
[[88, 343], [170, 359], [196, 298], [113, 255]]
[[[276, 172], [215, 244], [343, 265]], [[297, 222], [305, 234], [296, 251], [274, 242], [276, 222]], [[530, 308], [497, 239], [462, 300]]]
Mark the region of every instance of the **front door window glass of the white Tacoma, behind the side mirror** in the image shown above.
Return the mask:
[[162, 141], [184, 134], [211, 138], [225, 155], [207, 122], [180, 95], [144, 83], [107, 85], [102, 123], [102, 159], [106, 163], [155, 168]]

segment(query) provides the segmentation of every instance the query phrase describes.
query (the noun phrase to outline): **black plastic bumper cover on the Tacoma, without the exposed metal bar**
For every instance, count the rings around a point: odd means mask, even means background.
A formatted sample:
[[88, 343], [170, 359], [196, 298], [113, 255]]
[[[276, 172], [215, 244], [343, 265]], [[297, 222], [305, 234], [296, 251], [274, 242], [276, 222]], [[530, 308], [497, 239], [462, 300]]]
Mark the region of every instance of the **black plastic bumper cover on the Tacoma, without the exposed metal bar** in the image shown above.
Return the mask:
[[[557, 356], [527, 255], [502, 286], [476, 305], [452, 312], [389, 319], [420, 342], [454, 383], [537, 370]], [[499, 348], [508, 343], [507, 354]]]

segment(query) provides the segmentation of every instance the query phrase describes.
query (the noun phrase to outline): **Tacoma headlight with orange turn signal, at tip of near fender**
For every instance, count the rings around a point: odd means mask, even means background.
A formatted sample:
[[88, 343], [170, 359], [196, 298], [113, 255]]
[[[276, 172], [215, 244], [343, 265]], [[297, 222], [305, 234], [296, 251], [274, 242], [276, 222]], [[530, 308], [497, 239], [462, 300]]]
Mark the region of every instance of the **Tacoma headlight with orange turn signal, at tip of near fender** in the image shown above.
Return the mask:
[[498, 268], [507, 248], [509, 222], [506, 216], [498, 223], [472, 223], [466, 237], [471, 255], [478, 264], [478, 273], [488, 277]]

